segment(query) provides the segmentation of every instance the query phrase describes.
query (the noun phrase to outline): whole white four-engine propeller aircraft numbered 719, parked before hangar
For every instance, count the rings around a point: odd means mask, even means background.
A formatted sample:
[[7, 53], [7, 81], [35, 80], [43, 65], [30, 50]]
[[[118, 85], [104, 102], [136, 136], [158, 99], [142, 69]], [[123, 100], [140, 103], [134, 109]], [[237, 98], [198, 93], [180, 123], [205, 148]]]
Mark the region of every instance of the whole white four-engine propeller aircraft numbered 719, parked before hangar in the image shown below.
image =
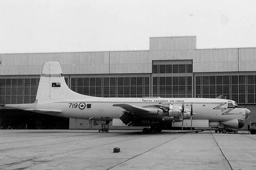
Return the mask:
[[127, 126], [144, 126], [143, 131], [160, 132], [172, 122], [208, 120], [216, 126], [239, 129], [250, 116], [249, 109], [233, 100], [203, 98], [119, 98], [93, 97], [77, 94], [65, 83], [59, 62], [43, 65], [36, 100], [32, 104], [6, 104], [7, 108], [22, 109], [54, 116], [95, 120], [109, 124], [121, 120]]

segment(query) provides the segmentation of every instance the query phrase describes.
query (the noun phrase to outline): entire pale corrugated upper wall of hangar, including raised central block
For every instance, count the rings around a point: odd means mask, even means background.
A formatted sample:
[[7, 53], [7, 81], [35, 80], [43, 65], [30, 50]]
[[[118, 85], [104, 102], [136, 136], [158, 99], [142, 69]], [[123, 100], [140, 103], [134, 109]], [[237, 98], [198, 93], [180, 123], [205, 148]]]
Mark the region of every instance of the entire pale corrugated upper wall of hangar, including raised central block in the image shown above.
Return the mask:
[[256, 70], [256, 48], [195, 50], [194, 41], [151, 38], [153, 49], [144, 51], [0, 54], [0, 75], [39, 75], [47, 61], [59, 61], [64, 74], [151, 73], [152, 60], [173, 59], [192, 59], [195, 73]]

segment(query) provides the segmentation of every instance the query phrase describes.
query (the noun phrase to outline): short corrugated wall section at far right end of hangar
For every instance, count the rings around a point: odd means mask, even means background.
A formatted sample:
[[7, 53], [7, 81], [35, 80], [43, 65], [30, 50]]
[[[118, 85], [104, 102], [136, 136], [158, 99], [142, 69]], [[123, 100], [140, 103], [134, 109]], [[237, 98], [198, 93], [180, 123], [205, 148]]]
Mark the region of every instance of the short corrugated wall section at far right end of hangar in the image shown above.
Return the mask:
[[241, 48], [239, 50], [239, 71], [256, 70], [256, 48]]

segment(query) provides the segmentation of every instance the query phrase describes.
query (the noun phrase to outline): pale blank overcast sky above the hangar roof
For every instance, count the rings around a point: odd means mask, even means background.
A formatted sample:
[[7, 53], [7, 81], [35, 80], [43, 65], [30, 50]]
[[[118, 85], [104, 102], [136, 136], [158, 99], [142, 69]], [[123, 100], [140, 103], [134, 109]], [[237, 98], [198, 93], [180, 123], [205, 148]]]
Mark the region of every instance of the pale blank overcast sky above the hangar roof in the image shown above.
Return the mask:
[[256, 1], [0, 0], [0, 53], [148, 50], [196, 36], [197, 49], [256, 47]]

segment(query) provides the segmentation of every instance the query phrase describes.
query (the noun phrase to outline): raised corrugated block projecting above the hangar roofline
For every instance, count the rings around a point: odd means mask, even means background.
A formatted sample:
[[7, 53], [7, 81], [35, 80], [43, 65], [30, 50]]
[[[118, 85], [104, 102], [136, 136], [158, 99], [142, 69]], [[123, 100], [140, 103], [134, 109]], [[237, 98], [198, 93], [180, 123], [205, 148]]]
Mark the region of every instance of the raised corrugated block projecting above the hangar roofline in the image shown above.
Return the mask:
[[196, 49], [196, 37], [153, 37], [150, 50]]

